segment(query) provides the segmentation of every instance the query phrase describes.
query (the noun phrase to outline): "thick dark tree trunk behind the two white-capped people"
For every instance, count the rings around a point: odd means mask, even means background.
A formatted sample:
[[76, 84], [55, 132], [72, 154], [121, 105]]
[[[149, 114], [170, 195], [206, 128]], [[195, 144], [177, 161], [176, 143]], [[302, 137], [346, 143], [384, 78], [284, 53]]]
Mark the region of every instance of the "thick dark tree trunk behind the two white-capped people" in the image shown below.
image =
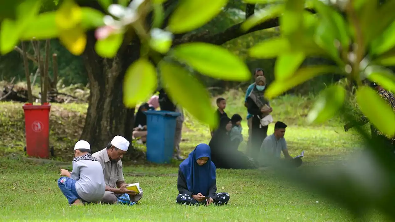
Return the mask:
[[[132, 52], [123, 50], [113, 59], [101, 58], [94, 50], [95, 42], [93, 33], [88, 33], [87, 48], [83, 54], [90, 96], [81, 139], [90, 143], [92, 152], [103, 149], [115, 135], [132, 141], [134, 109], [124, 107], [122, 82], [126, 69], [139, 56], [137, 47]], [[131, 143], [128, 156], [139, 158], [140, 154]]]

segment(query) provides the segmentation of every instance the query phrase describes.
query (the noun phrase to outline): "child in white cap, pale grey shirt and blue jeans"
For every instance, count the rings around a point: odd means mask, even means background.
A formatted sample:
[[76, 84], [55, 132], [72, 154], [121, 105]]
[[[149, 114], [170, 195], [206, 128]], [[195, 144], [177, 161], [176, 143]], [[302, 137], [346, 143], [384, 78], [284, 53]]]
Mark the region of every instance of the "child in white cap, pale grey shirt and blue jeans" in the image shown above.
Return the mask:
[[90, 154], [90, 145], [85, 140], [75, 143], [73, 171], [60, 170], [58, 186], [70, 205], [96, 203], [105, 192], [103, 168], [98, 159]]

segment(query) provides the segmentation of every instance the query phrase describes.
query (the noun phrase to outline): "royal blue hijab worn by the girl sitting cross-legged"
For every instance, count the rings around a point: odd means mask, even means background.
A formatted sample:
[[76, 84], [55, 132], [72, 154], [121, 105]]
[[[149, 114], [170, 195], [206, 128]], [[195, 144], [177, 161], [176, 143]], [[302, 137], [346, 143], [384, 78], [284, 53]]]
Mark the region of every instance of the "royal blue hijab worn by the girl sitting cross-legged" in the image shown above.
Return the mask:
[[[203, 166], [196, 162], [201, 157], [208, 157], [209, 160]], [[215, 182], [215, 165], [211, 161], [211, 151], [207, 144], [201, 143], [188, 158], [180, 164], [182, 174], [186, 180], [188, 190], [194, 194], [201, 193], [203, 196], [209, 195], [209, 188]]]

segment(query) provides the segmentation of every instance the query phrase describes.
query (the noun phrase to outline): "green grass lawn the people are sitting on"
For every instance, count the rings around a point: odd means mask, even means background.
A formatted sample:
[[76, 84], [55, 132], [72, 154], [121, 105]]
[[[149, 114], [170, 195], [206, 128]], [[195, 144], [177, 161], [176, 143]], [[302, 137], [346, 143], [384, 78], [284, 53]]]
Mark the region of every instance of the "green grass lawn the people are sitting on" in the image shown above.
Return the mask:
[[[224, 95], [228, 114], [246, 116], [237, 92]], [[231, 98], [237, 98], [231, 100]], [[214, 101], [215, 98], [213, 98]], [[324, 125], [309, 125], [303, 117], [314, 100], [285, 96], [273, 100], [273, 116], [289, 124], [286, 139], [290, 154], [305, 151], [304, 170], [346, 159], [358, 147], [354, 131], [345, 133], [339, 118]], [[326, 198], [273, 176], [271, 170], [217, 170], [218, 192], [231, 196], [226, 206], [191, 207], [175, 203], [177, 163], [158, 166], [124, 163], [126, 182], [140, 182], [144, 196], [138, 205], [69, 207], [57, 187], [59, 165], [26, 162], [23, 154], [24, 122], [21, 103], [0, 103], [0, 215], [1, 221], [352, 221], [354, 216]], [[53, 104], [51, 144], [58, 159], [70, 161], [73, 143], [81, 133], [87, 105]], [[246, 122], [243, 122], [247, 134]], [[71, 127], [73, 126], [73, 127]], [[269, 134], [273, 132], [273, 124]], [[186, 156], [198, 143], [209, 142], [207, 126], [186, 114], [182, 136]], [[245, 139], [247, 136], [245, 136]], [[245, 143], [240, 147], [245, 150]], [[9, 157], [10, 153], [16, 153]], [[70, 167], [70, 166], [62, 166]], [[367, 212], [366, 221], [383, 221]]]

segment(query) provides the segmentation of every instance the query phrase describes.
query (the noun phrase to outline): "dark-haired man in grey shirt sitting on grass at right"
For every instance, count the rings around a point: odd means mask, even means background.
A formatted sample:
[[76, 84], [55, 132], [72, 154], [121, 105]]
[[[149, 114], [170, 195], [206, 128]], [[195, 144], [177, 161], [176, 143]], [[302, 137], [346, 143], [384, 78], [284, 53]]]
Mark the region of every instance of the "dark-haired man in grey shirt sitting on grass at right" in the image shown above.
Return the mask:
[[[279, 162], [285, 162], [287, 167], [299, 167], [302, 164], [301, 158], [293, 159], [288, 153], [287, 142], [284, 139], [287, 125], [284, 122], [276, 122], [274, 133], [267, 136], [261, 145], [259, 154], [259, 164], [261, 167], [271, 166]], [[281, 151], [285, 159], [280, 160]]]

